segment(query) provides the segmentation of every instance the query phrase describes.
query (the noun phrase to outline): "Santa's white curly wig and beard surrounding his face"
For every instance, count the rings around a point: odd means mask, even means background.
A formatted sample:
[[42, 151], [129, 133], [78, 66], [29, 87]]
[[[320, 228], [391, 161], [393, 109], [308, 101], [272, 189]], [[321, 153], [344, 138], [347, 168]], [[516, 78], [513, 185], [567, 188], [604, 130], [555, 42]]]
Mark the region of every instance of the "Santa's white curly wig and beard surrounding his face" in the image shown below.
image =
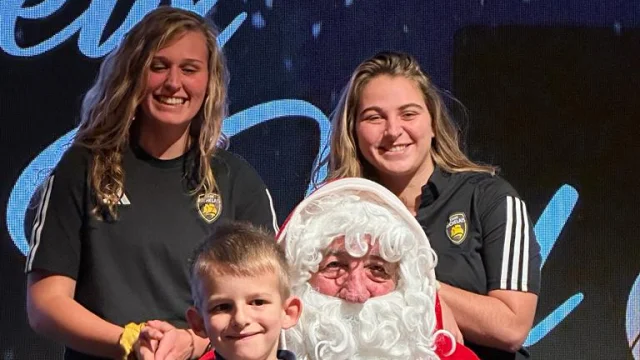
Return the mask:
[[[406, 216], [399, 215], [402, 211]], [[286, 229], [279, 240], [290, 264], [292, 292], [302, 299], [303, 310], [298, 325], [285, 331], [285, 346], [299, 359], [438, 359], [437, 257], [402, 204], [367, 192], [325, 194], [294, 213]], [[380, 257], [399, 264], [396, 290], [364, 304], [313, 290], [311, 274], [339, 237], [355, 258], [378, 244]]]

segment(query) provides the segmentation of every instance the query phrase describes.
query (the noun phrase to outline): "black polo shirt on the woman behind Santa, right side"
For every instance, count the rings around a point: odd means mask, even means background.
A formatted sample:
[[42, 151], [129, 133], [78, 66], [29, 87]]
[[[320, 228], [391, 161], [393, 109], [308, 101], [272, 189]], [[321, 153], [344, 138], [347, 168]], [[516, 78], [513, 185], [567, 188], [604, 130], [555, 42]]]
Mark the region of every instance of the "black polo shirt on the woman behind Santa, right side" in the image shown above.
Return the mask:
[[[438, 255], [438, 281], [480, 295], [498, 289], [539, 293], [541, 257], [533, 223], [524, 201], [499, 176], [436, 167], [422, 187], [416, 219]], [[465, 345], [483, 359], [516, 358]]]

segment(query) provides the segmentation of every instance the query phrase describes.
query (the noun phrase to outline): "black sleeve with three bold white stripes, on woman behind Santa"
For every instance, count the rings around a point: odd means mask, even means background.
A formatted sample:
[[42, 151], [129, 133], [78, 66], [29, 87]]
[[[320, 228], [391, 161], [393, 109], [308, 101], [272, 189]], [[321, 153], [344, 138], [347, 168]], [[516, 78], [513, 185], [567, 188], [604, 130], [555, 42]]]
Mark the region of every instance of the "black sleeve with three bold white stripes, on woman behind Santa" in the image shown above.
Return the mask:
[[540, 291], [540, 246], [525, 202], [506, 181], [479, 187], [482, 258], [487, 290]]

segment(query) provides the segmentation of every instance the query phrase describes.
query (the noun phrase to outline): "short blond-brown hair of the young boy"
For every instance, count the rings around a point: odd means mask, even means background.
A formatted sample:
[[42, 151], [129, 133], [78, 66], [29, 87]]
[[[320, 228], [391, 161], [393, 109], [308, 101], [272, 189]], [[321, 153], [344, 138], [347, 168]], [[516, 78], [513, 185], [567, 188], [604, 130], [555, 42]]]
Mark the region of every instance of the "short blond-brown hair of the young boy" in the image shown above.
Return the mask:
[[248, 222], [220, 224], [198, 246], [191, 259], [191, 296], [200, 308], [203, 300], [199, 291], [202, 278], [258, 276], [275, 273], [279, 278], [280, 296], [284, 301], [290, 294], [289, 266], [284, 250], [273, 234]]

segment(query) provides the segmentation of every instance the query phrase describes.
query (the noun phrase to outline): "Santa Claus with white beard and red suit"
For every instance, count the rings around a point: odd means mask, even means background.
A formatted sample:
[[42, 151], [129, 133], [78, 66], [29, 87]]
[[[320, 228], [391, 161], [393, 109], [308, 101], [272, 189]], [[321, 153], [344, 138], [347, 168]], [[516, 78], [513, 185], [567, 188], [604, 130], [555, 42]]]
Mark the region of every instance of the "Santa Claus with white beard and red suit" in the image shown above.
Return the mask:
[[330, 182], [289, 215], [277, 241], [304, 310], [281, 346], [298, 359], [477, 359], [442, 330], [424, 231], [365, 179]]

